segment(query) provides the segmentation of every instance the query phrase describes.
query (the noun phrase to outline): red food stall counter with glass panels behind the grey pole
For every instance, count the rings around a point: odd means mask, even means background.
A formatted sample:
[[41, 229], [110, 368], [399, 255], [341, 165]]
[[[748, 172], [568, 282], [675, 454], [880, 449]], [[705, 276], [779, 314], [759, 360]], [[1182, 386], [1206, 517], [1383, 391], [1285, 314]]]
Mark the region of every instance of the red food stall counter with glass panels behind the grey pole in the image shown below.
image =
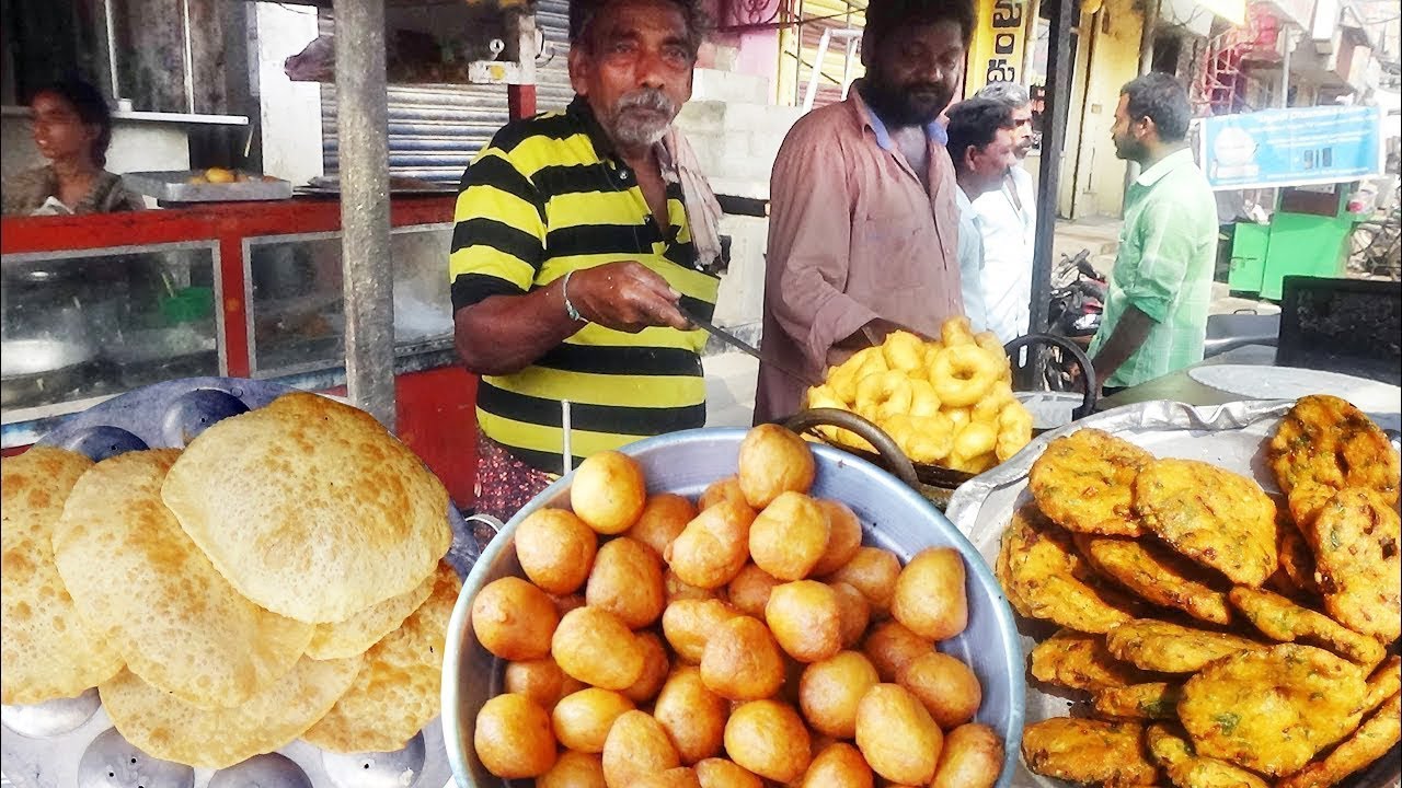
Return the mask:
[[[453, 198], [395, 196], [390, 213], [398, 433], [468, 506], [475, 377], [454, 360], [443, 278]], [[342, 394], [339, 229], [334, 199], [4, 219], [3, 449], [171, 379]]]

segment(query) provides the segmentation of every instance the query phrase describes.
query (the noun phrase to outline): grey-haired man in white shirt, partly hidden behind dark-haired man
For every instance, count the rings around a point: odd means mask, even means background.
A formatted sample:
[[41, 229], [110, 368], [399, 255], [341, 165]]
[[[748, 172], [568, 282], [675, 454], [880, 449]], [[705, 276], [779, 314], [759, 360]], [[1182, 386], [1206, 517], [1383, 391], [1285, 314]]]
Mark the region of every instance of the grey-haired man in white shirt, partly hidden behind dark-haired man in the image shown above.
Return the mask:
[[1022, 160], [1032, 150], [1032, 102], [1016, 83], [993, 83], [976, 98], [1000, 101], [1012, 112], [1014, 156], [998, 188], [973, 201], [983, 236], [983, 293], [988, 330], [1004, 344], [1028, 332], [1032, 248], [1037, 210], [1032, 175]]

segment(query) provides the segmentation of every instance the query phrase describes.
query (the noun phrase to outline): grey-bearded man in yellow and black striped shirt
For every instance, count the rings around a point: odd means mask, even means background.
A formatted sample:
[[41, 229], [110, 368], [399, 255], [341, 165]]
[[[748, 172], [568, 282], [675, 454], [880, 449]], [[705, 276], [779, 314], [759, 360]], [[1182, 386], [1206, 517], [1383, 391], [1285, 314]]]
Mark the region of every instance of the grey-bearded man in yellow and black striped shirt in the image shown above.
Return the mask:
[[679, 306], [711, 317], [716, 209], [672, 129], [698, 21], [693, 0], [572, 3], [575, 101], [509, 123], [463, 175], [449, 276], [481, 374], [478, 512], [512, 516], [566, 466], [566, 401], [571, 466], [705, 422], [705, 334]]

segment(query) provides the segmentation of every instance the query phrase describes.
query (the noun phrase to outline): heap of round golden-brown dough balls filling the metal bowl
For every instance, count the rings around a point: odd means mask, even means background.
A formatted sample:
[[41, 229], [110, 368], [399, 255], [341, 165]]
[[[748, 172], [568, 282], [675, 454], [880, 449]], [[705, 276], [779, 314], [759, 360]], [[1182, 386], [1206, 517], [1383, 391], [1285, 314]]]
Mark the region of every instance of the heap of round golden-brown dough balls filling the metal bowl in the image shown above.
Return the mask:
[[538, 788], [993, 785], [979, 679], [934, 648], [967, 623], [959, 554], [901, 568], [864, 547], [850, 508], [809, 495], [812, 451], [782, 428], [750, 430], [737, 467], [693, 503], [596, 454], [571, 509], [520, 522], [524, 578], [471, 607], [506, 662], [481, 763]]

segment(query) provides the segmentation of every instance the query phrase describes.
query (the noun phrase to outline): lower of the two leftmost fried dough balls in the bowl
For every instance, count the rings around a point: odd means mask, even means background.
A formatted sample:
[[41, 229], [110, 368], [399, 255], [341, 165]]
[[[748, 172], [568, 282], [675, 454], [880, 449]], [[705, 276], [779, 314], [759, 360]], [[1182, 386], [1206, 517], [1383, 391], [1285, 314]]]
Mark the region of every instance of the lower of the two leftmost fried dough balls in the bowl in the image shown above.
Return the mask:
[[472, 746], [482, 766], [506, 780], [545, 774], [555, 764], [550, 715], [516, 693], [503, 693], [482, 704]]

